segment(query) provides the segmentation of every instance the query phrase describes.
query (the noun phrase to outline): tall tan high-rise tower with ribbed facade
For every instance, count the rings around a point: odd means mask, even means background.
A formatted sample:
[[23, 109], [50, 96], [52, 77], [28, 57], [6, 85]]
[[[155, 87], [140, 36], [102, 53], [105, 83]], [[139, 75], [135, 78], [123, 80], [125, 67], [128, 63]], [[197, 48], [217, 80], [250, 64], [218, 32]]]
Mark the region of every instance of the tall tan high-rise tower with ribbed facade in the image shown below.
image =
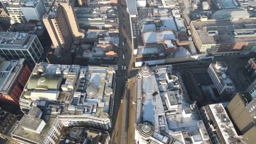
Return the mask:
[[84, 36], [84, 33], [79, 29], [73, 3], [73, 0], [54, 1], [43, 17], [54, 49], [69, 49], [72, 44], [79, 42], [79, 38]]

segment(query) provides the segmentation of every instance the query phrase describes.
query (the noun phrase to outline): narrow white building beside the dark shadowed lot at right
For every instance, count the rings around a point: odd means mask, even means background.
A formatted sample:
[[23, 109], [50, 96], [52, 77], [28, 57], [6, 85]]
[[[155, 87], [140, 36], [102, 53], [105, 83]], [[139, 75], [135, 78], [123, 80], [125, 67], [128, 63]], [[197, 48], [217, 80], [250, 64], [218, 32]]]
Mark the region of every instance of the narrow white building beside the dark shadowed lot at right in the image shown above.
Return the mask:
[[227, 69], [228, 65], [226, 65], [225, 62], [216, 62], [215, 64], [211, 63], [207, 70], [219, 95], [223, 95], [221, 99], [232, 99], [236, 92], [234, 83], [230, 77], [226, 75]]

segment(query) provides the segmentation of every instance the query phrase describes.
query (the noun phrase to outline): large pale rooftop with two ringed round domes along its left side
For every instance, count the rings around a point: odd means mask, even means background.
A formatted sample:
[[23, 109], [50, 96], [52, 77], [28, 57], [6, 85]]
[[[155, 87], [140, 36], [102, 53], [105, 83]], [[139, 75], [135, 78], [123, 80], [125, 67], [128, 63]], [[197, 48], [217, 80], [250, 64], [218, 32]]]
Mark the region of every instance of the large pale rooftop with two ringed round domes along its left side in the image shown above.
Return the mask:
[[[136, 130], [141, 139], [136, 138], [136, 141], [143, 143], [156, 139], [167, 143], [174, 139], [176, 143], [185, 143], [190, 139], [192, 143], [210, 143], [195, 110], [196, 105], [190, 104], [181, 76], [177, 75], [172, 74], [170, 65], [150, 68], [143, 66], [139, 70], [136, 84]], [[162, 135], [164, 133], [166, 135]]]

